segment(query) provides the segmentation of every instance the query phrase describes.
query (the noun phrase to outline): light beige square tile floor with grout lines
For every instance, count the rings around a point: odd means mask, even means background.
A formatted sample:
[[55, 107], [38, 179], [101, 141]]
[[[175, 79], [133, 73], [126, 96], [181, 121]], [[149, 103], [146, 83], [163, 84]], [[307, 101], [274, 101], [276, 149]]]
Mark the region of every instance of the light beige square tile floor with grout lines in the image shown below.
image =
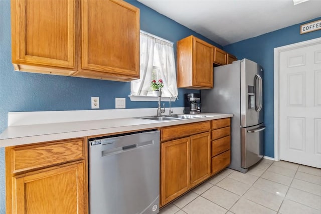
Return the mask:
[[247, 173], [225, 169], [161, 214], [321, 213], [321, 169], [263, 159]]

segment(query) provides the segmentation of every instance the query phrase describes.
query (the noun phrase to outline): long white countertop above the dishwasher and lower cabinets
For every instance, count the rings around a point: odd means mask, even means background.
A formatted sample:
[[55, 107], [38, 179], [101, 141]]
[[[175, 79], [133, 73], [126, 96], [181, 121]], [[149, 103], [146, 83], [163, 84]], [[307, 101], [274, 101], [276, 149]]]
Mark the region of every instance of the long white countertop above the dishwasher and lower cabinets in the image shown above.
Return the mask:
[[56, 122], [48, 124], [15, 125], [9, 126], [3, 133], [1, 133], [0, 147], [110, 134], [124, 131], [134, 131], [140, 129], [150, 129], [233, 116], [232, 114], [215, 113], [201, 113], [199, 115], [204, 115], [206, 117], [167, 121], [153, 121], [127, 117], [102, 120]]

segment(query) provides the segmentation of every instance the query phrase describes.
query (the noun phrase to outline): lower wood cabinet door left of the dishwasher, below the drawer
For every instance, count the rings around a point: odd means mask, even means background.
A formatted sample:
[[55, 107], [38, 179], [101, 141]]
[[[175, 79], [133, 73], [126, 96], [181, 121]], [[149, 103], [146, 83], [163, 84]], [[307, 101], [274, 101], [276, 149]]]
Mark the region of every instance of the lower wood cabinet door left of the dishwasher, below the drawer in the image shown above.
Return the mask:
[[84, 164], [13, 177], [13, 213], [86, 213]]

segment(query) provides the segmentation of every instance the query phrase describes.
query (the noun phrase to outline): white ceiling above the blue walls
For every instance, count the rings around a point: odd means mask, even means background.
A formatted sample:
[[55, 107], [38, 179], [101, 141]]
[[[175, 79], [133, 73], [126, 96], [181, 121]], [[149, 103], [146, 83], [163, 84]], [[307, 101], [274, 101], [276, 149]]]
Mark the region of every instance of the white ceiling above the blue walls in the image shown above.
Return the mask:
[[321, 0], [137, 1], [222, 46], [321, 17]]

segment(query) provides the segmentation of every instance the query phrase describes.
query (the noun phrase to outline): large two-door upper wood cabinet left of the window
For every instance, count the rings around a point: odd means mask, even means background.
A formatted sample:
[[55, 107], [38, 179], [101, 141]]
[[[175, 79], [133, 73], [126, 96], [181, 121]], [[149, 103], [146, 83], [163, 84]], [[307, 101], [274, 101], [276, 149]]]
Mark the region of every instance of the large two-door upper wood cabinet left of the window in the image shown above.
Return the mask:
[[139, 9], [120, 0], [11, 3], [15, 70], [139, 78]]

